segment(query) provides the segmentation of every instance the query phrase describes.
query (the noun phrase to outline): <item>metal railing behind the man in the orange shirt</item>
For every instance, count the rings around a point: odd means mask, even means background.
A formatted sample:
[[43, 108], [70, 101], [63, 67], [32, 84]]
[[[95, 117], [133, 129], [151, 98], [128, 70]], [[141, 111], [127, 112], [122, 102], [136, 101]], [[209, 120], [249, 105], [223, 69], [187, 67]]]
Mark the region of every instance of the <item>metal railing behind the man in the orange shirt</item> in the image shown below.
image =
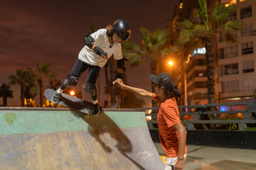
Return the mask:
[[[210, 111], [214, 108], [214, 111]], [[221, 111], [221, 108], [228, 108], [228, 111]], [[142, 108], [140, 108], [142, 109]], [[144, 108], [144, 110], [152, 110], [152, 113], [146, 113], [146, 118], [151, 116], [151, 120], [147, 120], [149, 129], [157, 128], [157, 110], [158, 108]], [[235, 125], [235, 130], [245, 130], [248, 123], [255, 124], [256, 127], [256, 102], [240, 102], [240, 103], [215, 103], [205, 105], [178, 106], [181, 123], [187, 130], [196, 130], [198, 125], [204, 127], [205, 130], [213, 130], [218, 125]], [[238, 117], [238, 114], [241, 117]], [[203, 119], [208, 117], [208, 120]], [[235, 115], [235, 116], [234, 116]], [[190, 117], [190, 119], [186, 119]]]

